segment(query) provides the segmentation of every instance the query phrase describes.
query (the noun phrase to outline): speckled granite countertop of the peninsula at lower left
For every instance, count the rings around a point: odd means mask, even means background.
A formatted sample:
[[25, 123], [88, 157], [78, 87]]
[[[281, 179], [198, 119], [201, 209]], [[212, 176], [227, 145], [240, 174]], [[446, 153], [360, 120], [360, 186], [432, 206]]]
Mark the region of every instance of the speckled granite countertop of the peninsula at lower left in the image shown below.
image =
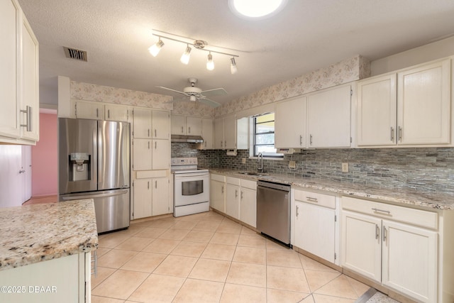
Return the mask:
[[0, 209], [0, 270], [97, 247], [92, 199]]

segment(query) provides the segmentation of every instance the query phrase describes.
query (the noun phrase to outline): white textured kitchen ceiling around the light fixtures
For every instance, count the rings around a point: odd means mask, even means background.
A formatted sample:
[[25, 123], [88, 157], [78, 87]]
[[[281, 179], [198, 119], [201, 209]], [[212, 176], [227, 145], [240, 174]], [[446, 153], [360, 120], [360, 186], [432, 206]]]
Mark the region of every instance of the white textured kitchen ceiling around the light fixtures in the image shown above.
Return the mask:
[[[201, 89], [225, 88], [212, 97], [225, 103], [354, 55], [376, 60], [454, 33], [451, 0], [289, 0], [260, 21], [238, 18], [226, 0], [18, 1], [40, 43], [41, 103], [56, 104], [57, 75], [156, 94], [196, 77]], [[182, 65], [185, 45], [170, 40], [151, 56], [153, 29], [239, 55], [238, 73], [216, 54], [206, 70], [207, 53], [195, 49]], [[66, 58], [62, 46], [87, 50], [88, 62]]]

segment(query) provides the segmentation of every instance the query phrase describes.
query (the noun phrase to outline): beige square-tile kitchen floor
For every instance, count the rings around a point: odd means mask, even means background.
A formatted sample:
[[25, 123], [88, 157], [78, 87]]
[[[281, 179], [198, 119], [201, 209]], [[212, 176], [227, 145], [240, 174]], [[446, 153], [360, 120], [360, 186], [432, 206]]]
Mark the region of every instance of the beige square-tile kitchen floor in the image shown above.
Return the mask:
[[214, 211], [99, 236], [92, 302], [355, 302], [369, 287]]

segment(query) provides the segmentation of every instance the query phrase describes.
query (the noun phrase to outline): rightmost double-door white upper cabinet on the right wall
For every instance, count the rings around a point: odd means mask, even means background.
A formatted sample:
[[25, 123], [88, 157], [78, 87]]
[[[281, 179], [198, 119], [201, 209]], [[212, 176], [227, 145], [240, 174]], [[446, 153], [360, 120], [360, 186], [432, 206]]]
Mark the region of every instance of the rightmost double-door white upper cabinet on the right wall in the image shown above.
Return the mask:
[[450, 65], [439, 60], [358, 82], [358, 146], [452, 143]]

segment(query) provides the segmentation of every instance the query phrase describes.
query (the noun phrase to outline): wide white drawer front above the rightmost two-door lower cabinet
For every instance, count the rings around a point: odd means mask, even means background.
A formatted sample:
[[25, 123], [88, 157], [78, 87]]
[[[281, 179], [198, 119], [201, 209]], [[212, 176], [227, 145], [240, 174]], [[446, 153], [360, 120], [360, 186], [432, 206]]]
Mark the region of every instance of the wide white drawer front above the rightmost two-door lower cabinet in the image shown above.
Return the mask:
[[433, 211], [411, 209], [409, 207], [369, 201], [352, 197], [342, 197], [342, 208], [401, 221], [426, 228], [438, 228], [438, 214]]

